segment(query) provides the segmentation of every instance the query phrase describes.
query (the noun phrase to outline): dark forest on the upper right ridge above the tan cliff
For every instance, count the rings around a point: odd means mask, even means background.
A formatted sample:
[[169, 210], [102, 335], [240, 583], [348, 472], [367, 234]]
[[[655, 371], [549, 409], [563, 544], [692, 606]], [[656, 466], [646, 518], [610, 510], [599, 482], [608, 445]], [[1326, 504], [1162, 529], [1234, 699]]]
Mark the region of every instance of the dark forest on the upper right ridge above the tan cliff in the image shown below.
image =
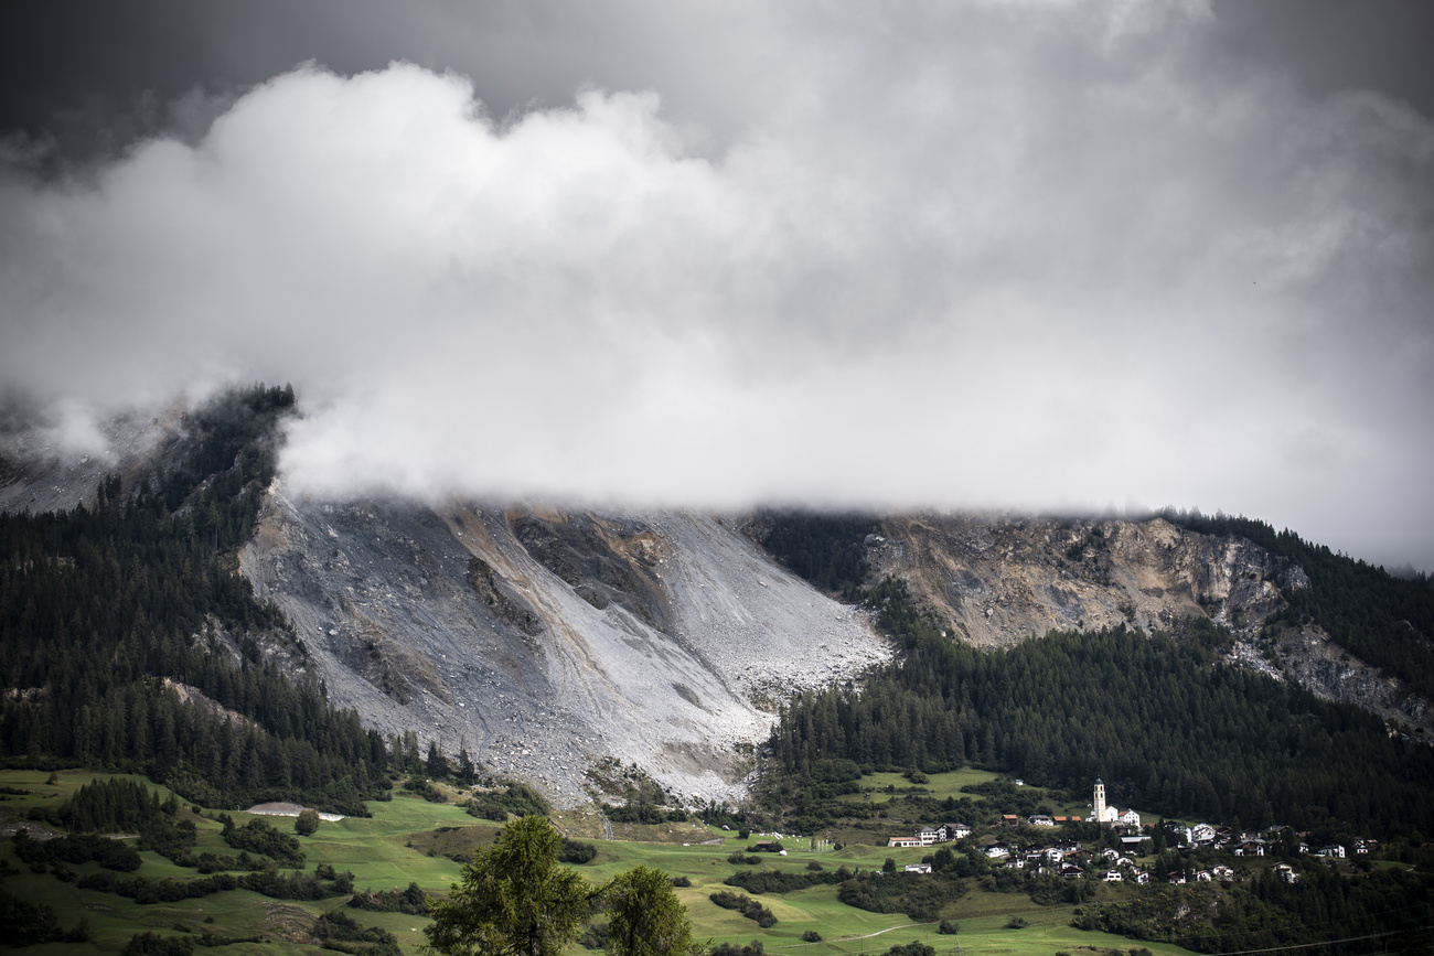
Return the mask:
[[1427, 576], [1394, 578], [1384, 568], [1252, 517], [1170, 509], [1162, 517], [1203, 535], [1245, 537], [1299, 565], [1309, 586], [1283, 588], [1289, 608], [1268, 625], [1314, 621], [1349, 654], [1404, 678], [1425, 698], [1434, 697], [1434, 588]]

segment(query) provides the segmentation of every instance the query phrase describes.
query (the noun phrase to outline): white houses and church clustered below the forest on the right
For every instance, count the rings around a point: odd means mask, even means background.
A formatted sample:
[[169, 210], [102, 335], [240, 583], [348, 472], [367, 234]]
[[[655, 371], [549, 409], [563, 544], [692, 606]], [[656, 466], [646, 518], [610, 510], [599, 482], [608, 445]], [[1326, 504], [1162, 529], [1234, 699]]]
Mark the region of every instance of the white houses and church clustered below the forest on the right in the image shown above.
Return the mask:
[[[1106, 806], [1106, 787], [1097, 780], [1096, 793], [1093, 801], [1094, 813], [1091, 814], [1091, 821], [1103, 823], [1106, 826], [1114, 827], [1120, 833], [1120, 849], [1107, 849], [1101, 851], [1087, 850], [1080, 843], [1074, 840], [1064, 840], [1051, 846], [1028, 846], [1015, 847], [1004, 840], [995, 840], [992, 843], [984, 844], [981, 853], [994, 863], [1002, 866], [1011, 866], [1017, 869], [1034, 867], [1037, 873], [1057, 873], [1067, 879], [1084, 877], [1093, 869], [1103, 874], [1106, 883], [1150, 883], [1153, 874], [1149, 870], [1140, 869], [1134, 857], [1140, 856], [1141, 840], [1147, 838], [1140, 830], [1140, 814], [1134, 810], [1120, 811], [1116, 807]], [[1021, 820], [1015, 814], [1004, 814], [1001, 817], [1005, 826], [1020, 826]], [[1055, 817], [1050, 814], [1032, 814], [1025, 818], [1025, 824], [1030, 827], [1058, 827], [1065, 823], [1080, 823], [1080, 817]], [[1193, 827], [1183, 827], [1173, 821], [1167, 821], [1166, 833], [1174, 840], [1182, 841], [1190, 847], [1209, 847], [1217, 850], [1229, 850], [1238, 857], [1262, 857], [1265, 856], [1265, 847], [1276, 840], [1283, 831], [1283, 827], [1269, 827], [1263, 831], [1246, 830], [1243, 833], [1235, 833], [1230, 827], [1215, 827], [1207, 823], [1200, 823]], [[941, 843], [952, 843], [956, 840], [965, 840], [971, 836], [971, 827], [964, 823], [942, 823], [935, 827], [922, 827], [916, 830], [915, 834], [909, 837], [891, 837], [886, 841], [888, 847], [931, 847]], [[1377, 840], [1359, 840], [1355, 843], [1357, 854], [1374, 853], [1378, 849]], [[1301, 853], [1311, 853], [1306, 843], [1299, 843]], [[1331, 844], [1319, 847], [1312, 856], [1324, 857], [1326, 860], [1342, 860], [1345, 859], [1345, 849], [1341, 844]], [[1286, 863], [1276, 863], [1273, 870], [1279, 873], [1286, 881], [1296, 883], [1299, 874]], [[908, 873], [931, 873], [931, 864], [913, 863], [906, 866]], [[1235, 870], [1228, 866], [1213, 866], [1207, 870], [1199, 870], [1193, 876], [1187, 876], [1183, 870], [1176, 870], [1166, 874], [1169, 883], [1186, 883], [1193, 879], [1200, 883], [1209, 881], [1228, 881], [1235, 879]]]

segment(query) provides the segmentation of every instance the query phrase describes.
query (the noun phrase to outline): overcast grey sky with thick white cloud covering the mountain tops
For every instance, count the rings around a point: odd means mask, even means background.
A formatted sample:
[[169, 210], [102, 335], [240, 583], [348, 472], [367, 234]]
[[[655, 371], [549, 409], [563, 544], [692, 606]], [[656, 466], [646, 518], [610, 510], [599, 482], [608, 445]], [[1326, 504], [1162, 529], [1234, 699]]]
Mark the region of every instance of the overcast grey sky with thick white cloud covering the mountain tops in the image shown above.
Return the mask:
[[0, 378], [294, 490], [1197, 506], [1434, 569], [1418, 3], [34, 4]]

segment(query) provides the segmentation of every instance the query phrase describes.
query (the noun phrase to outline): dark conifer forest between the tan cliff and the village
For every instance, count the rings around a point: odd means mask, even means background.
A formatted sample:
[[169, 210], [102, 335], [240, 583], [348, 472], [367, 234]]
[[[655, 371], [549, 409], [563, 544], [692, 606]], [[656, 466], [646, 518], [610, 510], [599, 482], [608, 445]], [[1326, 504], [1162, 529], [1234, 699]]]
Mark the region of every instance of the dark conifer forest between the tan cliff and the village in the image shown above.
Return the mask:
[[981, 764], [1113, 803], [1230, 824], [1331, 820], [1388, 837], [1431, 833], [1434, 755], [1355, 707], [1226, 665], [1226, 632], [1051, 632], [1005, 651], [941, 636], [905, 582], [865, 592], [902, 659], [860, 691], [806, 692], [770, 740], [769, 794], [800, 828], [837, 807], [806, 783], [822, 761], [926, 771]]

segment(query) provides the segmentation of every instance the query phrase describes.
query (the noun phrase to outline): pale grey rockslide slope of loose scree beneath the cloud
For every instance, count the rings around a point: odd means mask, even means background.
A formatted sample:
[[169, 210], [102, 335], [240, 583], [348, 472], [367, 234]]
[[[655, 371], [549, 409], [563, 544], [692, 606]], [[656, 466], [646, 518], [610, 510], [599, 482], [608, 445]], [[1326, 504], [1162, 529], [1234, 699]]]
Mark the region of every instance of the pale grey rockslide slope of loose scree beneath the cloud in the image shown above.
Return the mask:
[[604, 757], [690, 803], [736, 800], [777, 702], [891, 656], [737, 525], [291, 500], [277, 483], [241, 568], [370, 725], [465, 745], [559, 806], [588, 798]]

